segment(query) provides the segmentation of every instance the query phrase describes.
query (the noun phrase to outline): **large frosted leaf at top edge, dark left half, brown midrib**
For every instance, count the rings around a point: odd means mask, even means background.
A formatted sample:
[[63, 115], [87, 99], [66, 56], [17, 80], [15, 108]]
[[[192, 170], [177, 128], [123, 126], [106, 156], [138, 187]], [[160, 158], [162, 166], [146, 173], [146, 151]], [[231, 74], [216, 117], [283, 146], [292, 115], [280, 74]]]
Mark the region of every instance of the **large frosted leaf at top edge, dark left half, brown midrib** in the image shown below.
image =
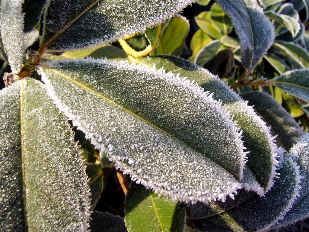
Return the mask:
[[65, 51], [108, 43], [163, 23], [192, 2], [85, 0], [77, 5], [49, 0], [41, 45]]

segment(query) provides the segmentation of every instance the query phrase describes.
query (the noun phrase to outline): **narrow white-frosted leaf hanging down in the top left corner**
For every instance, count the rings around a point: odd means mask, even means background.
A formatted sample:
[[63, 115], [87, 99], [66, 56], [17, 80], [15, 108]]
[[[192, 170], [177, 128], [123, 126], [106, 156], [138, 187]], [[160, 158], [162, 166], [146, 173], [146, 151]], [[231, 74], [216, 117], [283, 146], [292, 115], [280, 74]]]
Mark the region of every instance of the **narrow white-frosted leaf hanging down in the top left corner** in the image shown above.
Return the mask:
[[23, 0], [2, 0], [0, 6], [1, 37], [7, 60], [14, 74], [23, 63]]

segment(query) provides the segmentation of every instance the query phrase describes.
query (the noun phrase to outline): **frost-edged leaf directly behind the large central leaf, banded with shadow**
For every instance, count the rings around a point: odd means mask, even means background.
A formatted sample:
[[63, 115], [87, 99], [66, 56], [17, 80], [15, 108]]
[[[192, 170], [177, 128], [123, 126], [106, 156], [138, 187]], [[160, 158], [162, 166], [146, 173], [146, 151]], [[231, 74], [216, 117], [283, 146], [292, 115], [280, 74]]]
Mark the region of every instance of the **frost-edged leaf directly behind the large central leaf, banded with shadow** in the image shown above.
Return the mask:
[[222, 101], [224, 107], [230, 111], [238, 126], [243, 130], [245, 147], [251, 152], [248, 154], [247, 164], [266, 191], [270, 189], [276, 175], [276, 156], [281, 151], [277, 149], [270, 135], [269, 128], [237, 94], [231, 91], [224, 82], [211, 75], [205, 69], [173, 56], [157, 56], [140, 58], [140, 62], [164, 67], [166, 71], [180, 73], [190, 81], [195, 80], [205, 91], [214, 92], [213, 97]]

